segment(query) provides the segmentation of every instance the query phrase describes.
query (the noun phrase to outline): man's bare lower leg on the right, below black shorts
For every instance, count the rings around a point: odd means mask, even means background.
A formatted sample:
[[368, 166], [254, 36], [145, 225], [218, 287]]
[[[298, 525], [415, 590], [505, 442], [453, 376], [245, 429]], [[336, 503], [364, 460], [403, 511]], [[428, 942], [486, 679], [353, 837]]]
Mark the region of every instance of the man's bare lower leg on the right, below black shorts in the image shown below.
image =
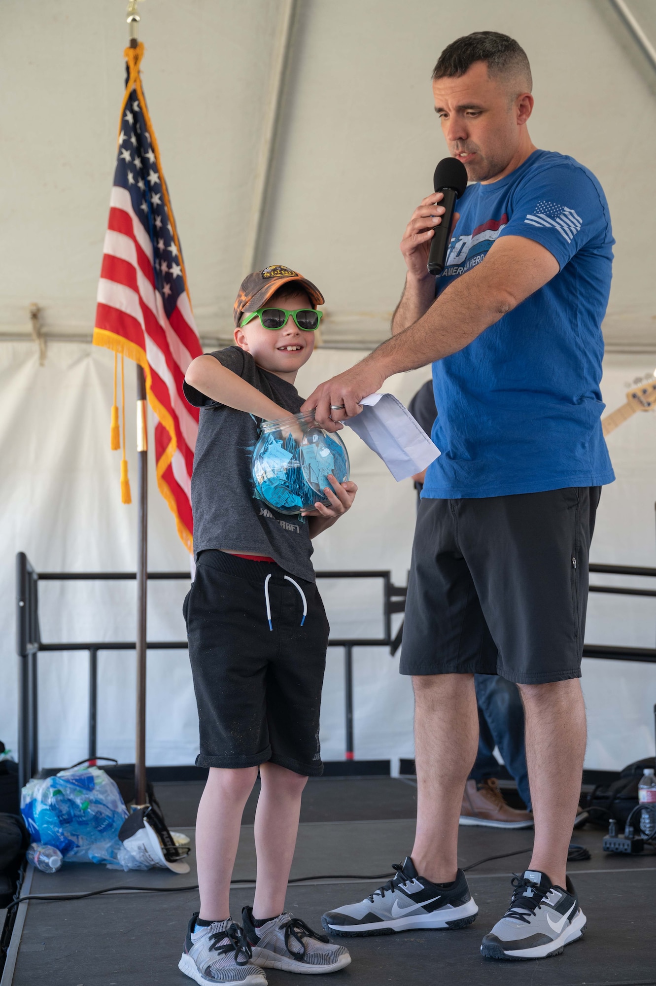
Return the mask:
[[535, 818], [529, 869], [564, 886], [585, 755], [581, 685], [578, 678], [569, 678], [518, 687], [526, 712], [526, 763]]

